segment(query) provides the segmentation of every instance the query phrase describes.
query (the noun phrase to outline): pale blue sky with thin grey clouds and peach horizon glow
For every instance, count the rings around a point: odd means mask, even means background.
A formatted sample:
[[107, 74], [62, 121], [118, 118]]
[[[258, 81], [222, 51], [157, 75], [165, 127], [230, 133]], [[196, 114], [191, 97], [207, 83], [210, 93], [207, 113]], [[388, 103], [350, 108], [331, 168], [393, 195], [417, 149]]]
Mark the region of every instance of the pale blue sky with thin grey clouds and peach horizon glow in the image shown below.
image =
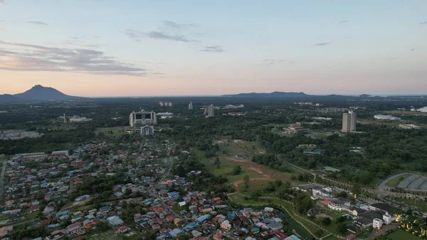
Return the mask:
[[0, 94], [427, 94], [426, 12], [426, 0], [0, 0]]

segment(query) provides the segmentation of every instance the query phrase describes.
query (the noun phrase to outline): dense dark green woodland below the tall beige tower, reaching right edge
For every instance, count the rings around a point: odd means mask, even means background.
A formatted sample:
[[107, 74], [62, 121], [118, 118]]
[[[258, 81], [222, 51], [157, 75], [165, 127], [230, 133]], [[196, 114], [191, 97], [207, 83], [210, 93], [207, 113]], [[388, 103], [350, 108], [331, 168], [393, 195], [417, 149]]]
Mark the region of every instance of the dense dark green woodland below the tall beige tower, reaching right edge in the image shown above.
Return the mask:
[[[253, 161], [276, 169], [280, 169], [281, 160], [309, 169], [339, 167], [342, 171], [331, 174], [331, 177], [362, 184], [404, 170], [427, 172], [426, 129], [401, 130], [386, 125], [358, 125], [358, 130], [365, 133], [342, 137], [334, 134], [324, 140], [314, 140], [304, 135], [280, 137], [269, 131], [258, 132], [258, 142], [271, 154], [255, 155]], [[303, 150], [297, 148], [302, 144], [315, 144], [322, 154], [304, 155]], [[363, 154], [349, 152], [352, 147], [362, 147]]]

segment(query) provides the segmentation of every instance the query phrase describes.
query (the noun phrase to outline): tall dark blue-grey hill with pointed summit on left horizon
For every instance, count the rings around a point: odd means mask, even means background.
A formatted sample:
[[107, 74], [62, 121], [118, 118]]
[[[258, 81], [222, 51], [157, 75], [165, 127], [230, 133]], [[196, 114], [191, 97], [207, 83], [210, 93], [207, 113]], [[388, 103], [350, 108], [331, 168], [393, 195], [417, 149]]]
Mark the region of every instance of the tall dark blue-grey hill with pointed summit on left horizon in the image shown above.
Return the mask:
[[66, 95], [56, 90], [55, 88], [46, 88], [42, 85], [35, 85], [30, 90], [26, 90], [23, 93], [15, 94], [14, 97], [21, 100], [78, 100], [83, 99], [80, 97], [74, 97]]

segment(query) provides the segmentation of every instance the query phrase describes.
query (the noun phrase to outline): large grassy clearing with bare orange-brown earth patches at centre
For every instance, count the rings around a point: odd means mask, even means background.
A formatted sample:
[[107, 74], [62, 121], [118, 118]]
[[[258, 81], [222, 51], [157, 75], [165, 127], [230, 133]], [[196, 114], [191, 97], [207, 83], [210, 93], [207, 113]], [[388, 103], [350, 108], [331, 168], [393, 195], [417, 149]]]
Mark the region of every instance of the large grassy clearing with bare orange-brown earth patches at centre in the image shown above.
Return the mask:
[[[193, 150], [196, 153], [196, 157], [203, 162], [206, 167], [216, 175], [226, 175], [228, 182], [239, 181], [239, 184], [243, 181], [243, 177], [248, 175], [251, 179], [280, 179], [283, 181], [290, 181], [294, 172], [280, 172], [270, 167], [259, 165], [258, 163], [251, 162], [252, 157], [255, 154], [260, 153], [259, 147], [255, 145], [255, 142], [233, 142], [233, 140], [224, 140], [224, 143], [220, 145], [220, 151], [218, 152], [218, 158], [221, 162], [220, 167], [214, 165], [216, 157], [210, 159], [206, 158], [204, 152], [200, 150]], [[241, 155], [236, 157], [236, 155]], [[242, 168], [241, 174], [229, 175], [233, 167], [240, 165]], [[295, 182], [302, 183], [302, 182]]]

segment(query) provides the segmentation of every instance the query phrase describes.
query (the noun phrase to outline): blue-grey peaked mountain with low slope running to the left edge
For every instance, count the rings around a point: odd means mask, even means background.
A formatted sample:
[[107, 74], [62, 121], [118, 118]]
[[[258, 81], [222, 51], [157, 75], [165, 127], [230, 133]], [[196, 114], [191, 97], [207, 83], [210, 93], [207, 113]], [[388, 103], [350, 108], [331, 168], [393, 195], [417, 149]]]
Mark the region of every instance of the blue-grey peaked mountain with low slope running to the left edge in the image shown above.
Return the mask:
[[0, 103], [12, 103], [22, 101], [46, 101], [46, 100], [83, 100], [84, 98], [66, 95], [55, 88], [46, 88], [35, 85], [30, 90], [15, 95], [0, 95]]

